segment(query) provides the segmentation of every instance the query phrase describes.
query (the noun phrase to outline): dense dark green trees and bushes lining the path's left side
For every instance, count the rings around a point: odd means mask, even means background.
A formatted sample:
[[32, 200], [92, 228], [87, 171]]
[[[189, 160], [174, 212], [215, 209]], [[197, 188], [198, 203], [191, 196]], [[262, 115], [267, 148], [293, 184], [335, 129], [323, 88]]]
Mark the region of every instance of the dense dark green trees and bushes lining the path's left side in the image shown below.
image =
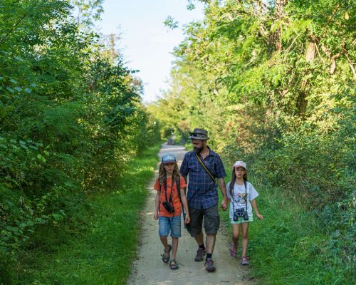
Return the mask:
[[[87, 2], [74, 3], [85, 21], [100, 14], [101, 1]], [[40, 247], [43, 227], [80, 223], [88, 192], [115, 185], [159, 124], [135, 72], [100, 53], [69, 1], [0, 6], [0, 283], [11, 283], [19, 251]]]

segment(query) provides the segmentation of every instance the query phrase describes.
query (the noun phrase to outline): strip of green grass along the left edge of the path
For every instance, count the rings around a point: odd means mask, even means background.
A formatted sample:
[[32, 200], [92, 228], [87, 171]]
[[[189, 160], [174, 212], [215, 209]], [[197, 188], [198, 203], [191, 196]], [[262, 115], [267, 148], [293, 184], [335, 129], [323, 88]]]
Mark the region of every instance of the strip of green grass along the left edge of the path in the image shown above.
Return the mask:
[[42, 229], [46, 242], [23, 254], [16, 284], [125, 284], [158, 150], [157, 145], [133, 159], [117, 189], [90, 197], [84, 229]]

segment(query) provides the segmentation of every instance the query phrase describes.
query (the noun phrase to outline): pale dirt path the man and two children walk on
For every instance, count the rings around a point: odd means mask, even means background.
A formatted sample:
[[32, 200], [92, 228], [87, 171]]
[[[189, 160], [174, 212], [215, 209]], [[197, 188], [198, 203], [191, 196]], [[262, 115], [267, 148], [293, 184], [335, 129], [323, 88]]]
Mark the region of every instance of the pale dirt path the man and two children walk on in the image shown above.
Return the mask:
[[[181, 145], [162, 145], [159, 157], [165, 152], [172, 152], [182, 162], [187, 150]], [[157, 176], [157, 170], [155, 172]], [[213, 254], [216, 271], [208, 273], [204, 269], [204, 261], [195, 262], [197, 243], [190, 237], [182, 226], [182, 237], [179, 239], [177, 252], [178, 270], [169, 269], [160, 257], [163, 247], [158, 237], [158, 221], [153, 219], [155, 209], [155, 180], [150, 182], [150, 196], [142, 212], [142, 232], [138, 259], [132, 265], [132, 274], [127, 284], [177, 284], [177, 285], [216, 285], [216, 284], [241, 284], [251, 285], [248, 281], [248, 268], [239, 264], [239, 261], [229, 256], [228, 240], [226, 234], [219, 230]], [[172, 239], [169, 237], [169, 243]]]

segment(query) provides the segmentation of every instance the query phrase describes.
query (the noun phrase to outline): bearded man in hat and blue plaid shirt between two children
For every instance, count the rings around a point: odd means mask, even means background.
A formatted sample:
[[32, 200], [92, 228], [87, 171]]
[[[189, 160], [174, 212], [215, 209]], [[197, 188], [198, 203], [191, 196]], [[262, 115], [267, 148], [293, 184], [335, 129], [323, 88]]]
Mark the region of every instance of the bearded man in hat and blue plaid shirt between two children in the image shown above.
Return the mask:
[[[221, 189], [223, 195], [221, 207], [225, 211], [228, 205], [224, 182], [226, 173], [219, 155], [210, 150], [209, 146], [206, 145], [207, 140], [209, 140], [208, 132], [204, 129], [194, 129], [189, 135], [189, 138], [192, 140], [194, 151], [187, 152], [184, 155], [182, 166], [180, 167], [180, 172], [186, 181], [187, 176], [189, 175], [187, 199], [190, 224], [187, 229], [189, 234], [194, 237], [199, 245], [194, 260], [202, 261], [206, 254], [205, 269], [208, 272], [213, 272], [216, 268], [214, 266], [212, 254], [214, 252], [216, 233], [220, 224], [218, 212], [219, 198], [213, 177], [216, 178]], [[200, 158], [201, 162], [204, 163], [207, 170], [211, 172], [213, 177], [211, 177], [204, 169], [204, 166], [201, 165], [197, 156]], [[201, 232], [203, 219], [206, 233], [206, 247], [204, 247], [204, 234]]]

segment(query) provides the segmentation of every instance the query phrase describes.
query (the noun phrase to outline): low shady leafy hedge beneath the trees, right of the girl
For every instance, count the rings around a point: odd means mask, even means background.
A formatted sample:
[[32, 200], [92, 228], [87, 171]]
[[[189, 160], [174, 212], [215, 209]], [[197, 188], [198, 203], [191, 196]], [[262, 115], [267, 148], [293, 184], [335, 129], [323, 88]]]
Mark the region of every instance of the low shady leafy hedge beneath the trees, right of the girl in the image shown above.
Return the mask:
[[[349, 100], [348, 104], [355, 104], [355, 100]], [[349, 279], [356, 230], [356, 130], [351, 110], [337, 108], [330, 113], [343, 114], [332, 133], [286, 134], [277, 149], [261, 149], [250, 157], [254, 161], [252, 171], [263, 184], [280, 187], [286, 197], [293, 197], [296, 204], [302, 205], [305, 215], [318, 220], [318, 229], [325, 233], [323, 242], [328, 247], [325, 262], [333, 266], [337, 260], [340, 271], [344, 271]]]

